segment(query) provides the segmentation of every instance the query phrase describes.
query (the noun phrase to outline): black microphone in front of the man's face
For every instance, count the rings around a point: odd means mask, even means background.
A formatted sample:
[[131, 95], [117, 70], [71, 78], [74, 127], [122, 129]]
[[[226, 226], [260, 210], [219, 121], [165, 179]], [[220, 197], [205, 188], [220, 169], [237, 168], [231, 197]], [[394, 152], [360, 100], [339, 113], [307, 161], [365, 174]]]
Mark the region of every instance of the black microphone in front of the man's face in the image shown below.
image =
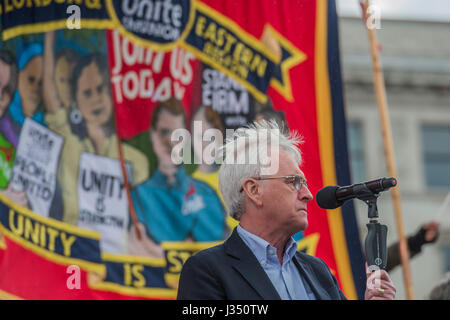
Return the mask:
[[347, 200], [367, 195], [367, 192], [378, 194], [396, 185], [395, 178], [381, 178], [344, 187], [327, 186], [317, 192], [316, 201], [322, 209], [336, 209]]

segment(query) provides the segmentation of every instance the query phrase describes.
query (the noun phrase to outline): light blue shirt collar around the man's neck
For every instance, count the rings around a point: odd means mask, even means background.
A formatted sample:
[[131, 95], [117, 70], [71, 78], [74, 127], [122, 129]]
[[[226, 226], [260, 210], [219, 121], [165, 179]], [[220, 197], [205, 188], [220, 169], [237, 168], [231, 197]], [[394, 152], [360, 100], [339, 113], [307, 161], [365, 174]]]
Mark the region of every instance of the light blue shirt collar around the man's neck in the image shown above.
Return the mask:
[[[276, 248], [272, 247], [269, 242], [251, 232], [248, 232], [247, 230], [242, 228], [240, 224], [237, 225], [236, 231], [245, 242], [245, 244], [253, 252], [259, 263], [266, 263], [269, 260], [269, 255], [276, 254]], [[271, 250], [273, 250], [272, 253]], [[297, 242], [291, 237], [286, 244], [286, 250], [284, 251], [283, 256], [283, 265], [291, 261], [296, 252]]]

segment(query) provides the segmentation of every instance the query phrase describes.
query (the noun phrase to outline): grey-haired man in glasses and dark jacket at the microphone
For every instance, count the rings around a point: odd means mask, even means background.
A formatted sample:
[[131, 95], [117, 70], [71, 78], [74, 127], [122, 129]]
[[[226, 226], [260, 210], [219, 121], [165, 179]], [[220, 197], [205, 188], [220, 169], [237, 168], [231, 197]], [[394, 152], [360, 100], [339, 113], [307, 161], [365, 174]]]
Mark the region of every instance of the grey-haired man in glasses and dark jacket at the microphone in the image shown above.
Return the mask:
[[[255, 122], [227, 139], [219, 187], [239, 225], [223, 244], [186, 261], [178, 299], [345, 299], [328, 266], [298, 252], [292, 238], [307, 228], [307, 203], [313, 199], [299, 168], [300, 143], [275, 121]], [[394, 296], [385, 271], [368, 275], [366, 299]]]

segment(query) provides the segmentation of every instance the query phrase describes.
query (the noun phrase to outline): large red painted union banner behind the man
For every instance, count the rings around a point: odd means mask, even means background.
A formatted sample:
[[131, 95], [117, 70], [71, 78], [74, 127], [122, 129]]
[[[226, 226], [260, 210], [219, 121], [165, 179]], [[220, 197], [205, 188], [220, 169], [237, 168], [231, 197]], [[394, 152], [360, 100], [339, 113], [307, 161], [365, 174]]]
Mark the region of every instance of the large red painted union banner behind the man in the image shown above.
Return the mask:
[[[5, 0], [0, 22], [0, 297], [175, 298], [238, 223], [208, 129], [275, 119], [304, 137], [313, 194], [349, 184], [334, 1]], [[36, 170], [45, 210], [14, 187]], [[363, 298], [353, 207], [309, 213], [299, 250]]]

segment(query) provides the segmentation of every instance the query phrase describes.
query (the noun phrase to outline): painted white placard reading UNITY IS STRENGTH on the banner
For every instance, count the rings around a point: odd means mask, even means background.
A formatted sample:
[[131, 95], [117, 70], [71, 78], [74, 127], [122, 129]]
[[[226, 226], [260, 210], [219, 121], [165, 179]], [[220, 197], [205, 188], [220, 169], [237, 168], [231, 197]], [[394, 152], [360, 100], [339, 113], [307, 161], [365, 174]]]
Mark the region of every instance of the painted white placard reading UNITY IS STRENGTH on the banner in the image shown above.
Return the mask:
[[[132, 178], [129, 164], [127, 169]], [[101, 251], [126, 253], [128, 200], [119, 160], [81, 154], [78, 203], [78, 227], [100, 232]]]

